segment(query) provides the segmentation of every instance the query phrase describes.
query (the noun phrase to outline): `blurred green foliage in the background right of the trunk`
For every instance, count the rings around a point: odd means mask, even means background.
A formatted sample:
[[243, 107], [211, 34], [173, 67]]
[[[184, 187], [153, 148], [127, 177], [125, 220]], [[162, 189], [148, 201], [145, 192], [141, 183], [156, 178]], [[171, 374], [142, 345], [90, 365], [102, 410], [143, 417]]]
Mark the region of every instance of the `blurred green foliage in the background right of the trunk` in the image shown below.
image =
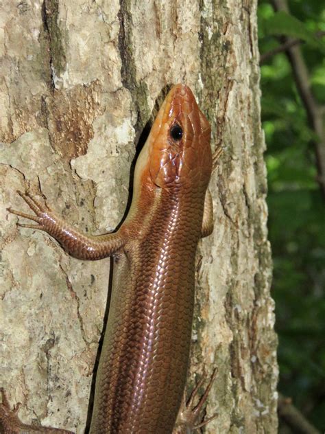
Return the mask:
[[[260, 52], [276, 36], [299, 38], [311, 89], [325, 103], [325, 3], [289, 0], [291, 16], [259, 1]], [[325, 427], [325, 208], [317, 184], [311, 129], [284, 53], [261, 65], [262, 119], [267, 142], [269, 238], [274, 257], [272, 295], [279, 334], [279, 390], [320, 431]]]

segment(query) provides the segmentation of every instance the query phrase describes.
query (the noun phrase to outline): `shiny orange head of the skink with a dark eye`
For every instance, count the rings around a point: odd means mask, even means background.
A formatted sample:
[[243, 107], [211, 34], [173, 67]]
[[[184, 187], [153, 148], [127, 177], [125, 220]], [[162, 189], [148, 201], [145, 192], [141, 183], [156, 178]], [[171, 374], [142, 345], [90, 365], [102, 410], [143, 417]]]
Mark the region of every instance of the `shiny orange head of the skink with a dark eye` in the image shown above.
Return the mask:
[[169, 91], [136, 166], [161, 188], [208, 185], [210, 125], [189, 87], [176, 84]]

